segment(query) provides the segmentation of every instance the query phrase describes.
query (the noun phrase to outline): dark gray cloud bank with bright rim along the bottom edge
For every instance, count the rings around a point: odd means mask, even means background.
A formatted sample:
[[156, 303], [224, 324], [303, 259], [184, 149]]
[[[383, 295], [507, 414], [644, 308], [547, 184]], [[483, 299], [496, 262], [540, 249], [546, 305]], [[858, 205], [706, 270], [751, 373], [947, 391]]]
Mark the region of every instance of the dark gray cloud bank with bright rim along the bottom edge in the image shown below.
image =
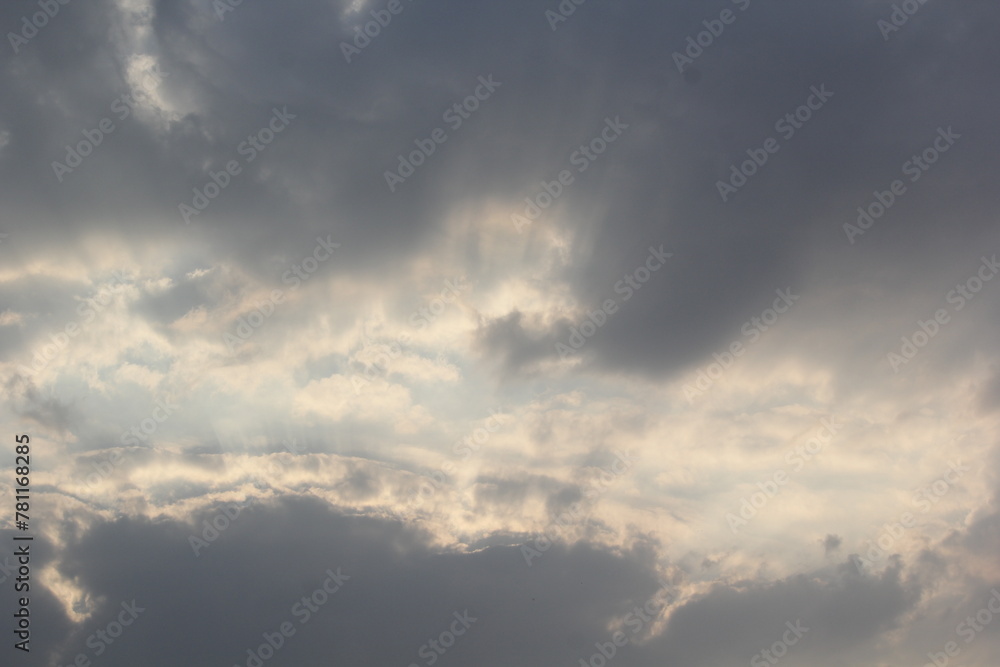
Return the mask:
[[[278, 652], [281, 662], [424, 664], [421, 647], [448, 630], [454, 612], [469, 610], [476, 621], [442, 664], [577, 662], [609, 641], [609, 623], [628, 619], [625, 632], [636, 642], [622, 651], [628, 664], [735, 665], [772, 635], [780, 639], [786, 620], [810, 627], [803, 655], [857, 646], [891, 626], [917, 595], [898, 569], [866, 579], [853, 566], [719, 586], [678, 606], [665, 634], [650, 641], [651, 623], [629, 614], [663, 585], [676, 604], [681, 582], [662, 581], [641, 542], [620, 554], [557, 544], [528, 567], [516, 545], [441, 551], [402, 524], [287, 498], [245, 509], [195, 557], [191, 535], [205, 534], [203, 522], [220, 512], [194, 517], [195, 526], [123, 518], [70, 533], [56, 565], [91, 613], [63, 636], [52, 633], [65, 628], [65, 617], [40, 613], [38, 627], [47, 627], [37, 646], [46, 657], [34, 664], [69, 664], [78, 653], [93, 659], [99, 646], [105, 665], [245, 664], [246, 649], [284, 621], [296, 633]], [[46, 557], [39, 556], [40, 565]], [[308, 619], [296, 614], [293, 605], [322, 585], [327, 570], [350, 578]], [[141, 611], [106, 643], [97, 633], [121, 615], [122, 603]]]

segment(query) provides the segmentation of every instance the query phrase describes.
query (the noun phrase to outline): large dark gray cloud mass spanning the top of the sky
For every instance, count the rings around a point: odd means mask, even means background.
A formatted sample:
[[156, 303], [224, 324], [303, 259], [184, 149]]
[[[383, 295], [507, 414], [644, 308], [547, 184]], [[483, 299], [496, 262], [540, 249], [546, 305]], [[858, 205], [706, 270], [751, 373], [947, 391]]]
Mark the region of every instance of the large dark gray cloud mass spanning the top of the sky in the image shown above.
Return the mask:
[[[14, 220], [38, 218], [46, 201], [45, 210], [58, 212], [43, 218], [43, 228], [59, 224], [65, 233], [72, 220], [69, 229], [110, 226], [126, 237], [193, 235], [251, 271], [260, 270], [262, 251], [293, 252], [334, 229], [352, 249], [336, 270], [370, 271], [432, 243], [457, 201], [498, 197], [514, 205], [533, 196], [605, 117], [620, 116], [630, 129], [578, 175], [560, 201], [565, 210], [534, 227], [580, 235], [567, 277], [590, 306], [614, 296], [613, 286], [648, 245], [677, 253], [589, 350], [601, 367], [656, 373], [688, 367], [728, 343], [775, 288], [803, 285], [802, 261], [812, 252], [848, 262], [853, 253], [858, 270], [872, 276], [886, 264], [930, 261], [942, 244], [985, 238], [992, 228], [975, 176], [988, 166], [984, 149], [995, 139], [993, 88], [981, 63], [996, 49], [986, 28], [996, 16], [981, 4], [923, 7], [886, 43], [876, 27], [884, 8], [870, 3], [753, 3], [699, 57], [703, 78], [689, 85], [671, 54], [703, 29], [708, 8], [580, 7], [553, 33], [531, 3], [503, 10], [414, 5], [348, 65], [339, 43], [352, 25], [341, 22], [336, 5], [251, 4], [218, 21], [209, 3], [157, 3], [148, 41], [169, 73], [163, 97], [175, 101], [179, 117], [166, 129], [126, 118], [78, 172], [57, 183], [47, 174], [62, 146], [127, 92], [120, 64], [107, 62], [115, 43], [87, 39], [102, 16], [116, 13], [112, 7], [67, 7], [23, 53], [8, 57], [5, 76], [18, 94], [6, 103], [12, 140], [3, 163], [10, 176], [15, 165], [19, 174], [6, 181], [12, 210], [26, 211]], [[7, 11], [13, 23], [17, 10]], [[55, 46], [70, 30], [70, 12], [89, 21], [73, 27], [73, 43], [88, 45], [85, 57]], [[948, 48], [956, 41], [962, 49]], [[24, 72], [43, 66], [45, 77]], [[441, 125], [441, 111], [489, 73], [502, 88], [390, 194], [382, 174], [397, 154]], [[71, 77], [88, 83], [64, 85]], [[63, 103], [43, 105], [43, 85]], [[834, 97], [723, 204], [715, 182], [775, 135], [775, 121], [803, 104], [814, 85]], [[287, 133], [185, 227], [177, 205], [206, 182], [209, 169], [239, 157], [246, 135], [285, 105], [298, 116]], [[964, 137], [955, 153], [862, 247], [848, 247], [842, 222], [898, 176], [939, 126]], [[114, 183], [106, 176], [112, 164]], [[28, 180], [19, 187], [21, 179]], [[85, 195], [94, 191], [104, 196]], [[897, 231], [904, 219], [905, 232]], [[27, 244], [37, 225], [21, 224], [13, 232]], [[901, 234], [905, 241], [892, 240]], [[517, 317], [491, 329], [488, 349], [512, 369], [543, 351], [553, 356], [548, 338], [563, 331], [539, 342], [519, 329]]]

